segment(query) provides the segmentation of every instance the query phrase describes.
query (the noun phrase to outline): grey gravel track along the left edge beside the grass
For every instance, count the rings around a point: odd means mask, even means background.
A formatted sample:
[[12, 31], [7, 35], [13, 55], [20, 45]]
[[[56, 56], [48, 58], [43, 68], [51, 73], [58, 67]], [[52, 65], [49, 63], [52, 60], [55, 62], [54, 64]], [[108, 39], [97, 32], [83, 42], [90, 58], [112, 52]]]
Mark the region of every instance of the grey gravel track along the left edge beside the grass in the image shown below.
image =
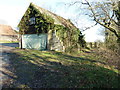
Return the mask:
[[8, 54], [15, 47], [18, 47], [17, 43], [0, 43], [0, 89], [12, 82]]

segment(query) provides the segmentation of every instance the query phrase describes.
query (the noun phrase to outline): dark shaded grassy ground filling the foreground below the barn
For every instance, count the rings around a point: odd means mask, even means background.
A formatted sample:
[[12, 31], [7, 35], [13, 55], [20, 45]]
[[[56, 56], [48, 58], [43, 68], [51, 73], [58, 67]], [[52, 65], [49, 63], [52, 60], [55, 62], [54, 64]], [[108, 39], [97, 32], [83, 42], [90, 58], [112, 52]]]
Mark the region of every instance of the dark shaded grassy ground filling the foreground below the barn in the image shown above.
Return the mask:
[[[30, 52], [28, 52], [30, 53]], [[42, 52], [41, 52], [42, 53]], [[41, 54], [39, 53], [39, 54]], [[25, 56], [11, 53], [10, 64], [15, 69], [11, 71], [16, 75], [11, 87], [34, 88], [118, 88], [119, 75], [112, 70], [92, 64], [63, 64], [61, 59], [77, 61], [85, 58], [73, 57], [62, 53], [50, 51], [59, 62], [49, 61], [53, 57], [42, 57], [30, 53]], [[47, 53], [48, 54], [48, 53]], [[42, 55], [42, 54], [41, 54]], [[31, 58], [31, 56], [36, 59]], [[62, 58], [61, 58], [62, 57]], [[93, 60], [88, 60], [93, 63]], [[65, 62], [65, 61], [64, 61]], [[8, 86], [9, 87], [9, 86]]]

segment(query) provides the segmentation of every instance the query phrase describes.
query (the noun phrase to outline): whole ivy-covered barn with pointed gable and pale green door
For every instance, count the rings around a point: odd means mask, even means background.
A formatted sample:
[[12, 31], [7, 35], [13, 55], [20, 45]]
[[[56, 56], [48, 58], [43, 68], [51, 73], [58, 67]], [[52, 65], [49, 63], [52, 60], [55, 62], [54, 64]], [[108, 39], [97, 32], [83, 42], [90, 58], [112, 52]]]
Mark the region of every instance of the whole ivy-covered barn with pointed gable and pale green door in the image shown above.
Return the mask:
[[30, 3], [18, 25], [20, 48], [67, 51], [84, 46], [80, 30], [70, 21]]

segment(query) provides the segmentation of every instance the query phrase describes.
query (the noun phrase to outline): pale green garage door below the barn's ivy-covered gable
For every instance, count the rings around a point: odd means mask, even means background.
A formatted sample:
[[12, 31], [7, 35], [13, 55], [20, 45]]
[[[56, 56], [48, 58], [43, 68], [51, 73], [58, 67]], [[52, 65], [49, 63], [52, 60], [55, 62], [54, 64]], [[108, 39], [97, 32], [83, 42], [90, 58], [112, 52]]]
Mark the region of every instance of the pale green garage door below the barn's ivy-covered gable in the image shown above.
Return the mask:
[[46, 50], [47, 34], [25, 34], [22, 35], [22, 47], [27, 49]]

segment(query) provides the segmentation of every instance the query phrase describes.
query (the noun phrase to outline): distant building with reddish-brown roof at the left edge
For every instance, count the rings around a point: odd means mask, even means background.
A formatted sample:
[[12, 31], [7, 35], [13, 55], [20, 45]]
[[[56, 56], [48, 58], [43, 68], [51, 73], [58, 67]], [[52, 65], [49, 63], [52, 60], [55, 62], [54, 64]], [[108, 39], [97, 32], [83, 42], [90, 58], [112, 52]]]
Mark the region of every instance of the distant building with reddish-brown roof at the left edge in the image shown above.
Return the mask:
[[8, 25], [0, 25], [0, 42], [10, 41], [14, 42], [18, 40], [17, 33]]

